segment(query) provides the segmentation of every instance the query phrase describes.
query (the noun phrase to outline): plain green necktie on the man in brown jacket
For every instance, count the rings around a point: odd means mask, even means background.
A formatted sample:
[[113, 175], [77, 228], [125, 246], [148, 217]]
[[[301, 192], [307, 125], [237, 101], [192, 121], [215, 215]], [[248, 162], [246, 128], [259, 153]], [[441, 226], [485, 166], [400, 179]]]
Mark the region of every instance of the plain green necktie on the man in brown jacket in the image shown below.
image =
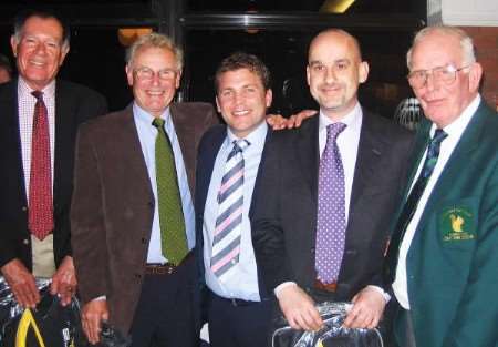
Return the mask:
[[156, 183], [159, 204], [160, 244], [168, 262], [178, 265], [187, 255], [185, 221], [176, 176], [172, 143], [164, 130], [164, 120], [156, 118]]

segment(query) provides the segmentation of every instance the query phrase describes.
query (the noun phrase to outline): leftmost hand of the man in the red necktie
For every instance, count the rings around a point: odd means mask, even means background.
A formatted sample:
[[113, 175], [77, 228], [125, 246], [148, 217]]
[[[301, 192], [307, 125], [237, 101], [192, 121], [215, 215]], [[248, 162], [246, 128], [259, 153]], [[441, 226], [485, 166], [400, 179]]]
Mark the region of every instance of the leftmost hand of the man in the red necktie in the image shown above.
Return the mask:
[[1, 268], [2, 275], [9, 284], [15, 300], [22, 307], [34, 308], [40, 303], [33, 274], [19, 259], [12, 259]]

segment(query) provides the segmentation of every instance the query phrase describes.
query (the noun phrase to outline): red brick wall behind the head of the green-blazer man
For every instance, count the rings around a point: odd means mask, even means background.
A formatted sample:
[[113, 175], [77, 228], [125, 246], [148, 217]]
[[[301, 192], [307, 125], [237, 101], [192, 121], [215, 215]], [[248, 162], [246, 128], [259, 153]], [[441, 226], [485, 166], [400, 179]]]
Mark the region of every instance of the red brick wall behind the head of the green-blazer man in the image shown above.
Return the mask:
[[498, 27], [463, 27], [470, 34], [484, 70], [483, 96], [498, 110]]

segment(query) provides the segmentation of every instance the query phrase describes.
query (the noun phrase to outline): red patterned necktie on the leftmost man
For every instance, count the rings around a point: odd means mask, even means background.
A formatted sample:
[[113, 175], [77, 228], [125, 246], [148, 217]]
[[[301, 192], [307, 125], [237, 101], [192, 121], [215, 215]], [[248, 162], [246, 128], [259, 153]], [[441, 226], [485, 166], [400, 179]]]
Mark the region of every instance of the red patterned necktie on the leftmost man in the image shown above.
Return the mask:
[[37, 238], [43, 239], [53, 231], [49, 113], [43, 93], [34, 91], [31, 94], [37, 98], [37, 103], [31, 139], [28, 225]]

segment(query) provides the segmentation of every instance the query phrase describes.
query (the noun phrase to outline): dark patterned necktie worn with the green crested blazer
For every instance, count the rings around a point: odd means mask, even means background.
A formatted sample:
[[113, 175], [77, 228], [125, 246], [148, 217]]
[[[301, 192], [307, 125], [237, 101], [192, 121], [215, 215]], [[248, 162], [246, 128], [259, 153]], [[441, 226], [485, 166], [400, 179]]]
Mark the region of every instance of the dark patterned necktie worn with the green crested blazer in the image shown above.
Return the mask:
[[408, 197], [403, 206], [403, 211], [396, 222], [396, 227], [394, 228], [393, 236], [391, 237], [390, 248], [387, 251], [385, 266], [384, 266], [384, 278], [386, 283], [391, 284], [394, 280], [397, 265], [397, 256], [400, 254], [400, 246], [403, 237], [406, 233], [406, 227], [415, 214], [418, 206], [418, 201], [424, 193], [425, 186], [427, 185], [430, 175], [433, 174], [434, 167], [436, 166], [437, 159], [439, 157], [439, 149], [443, 140], [446, 139], [448, 134], [442, 129], [437, 129], [434, 133], [433, 139], [427, 147], [427, 155], [422, 166], [421, 174], [415, 182]]

